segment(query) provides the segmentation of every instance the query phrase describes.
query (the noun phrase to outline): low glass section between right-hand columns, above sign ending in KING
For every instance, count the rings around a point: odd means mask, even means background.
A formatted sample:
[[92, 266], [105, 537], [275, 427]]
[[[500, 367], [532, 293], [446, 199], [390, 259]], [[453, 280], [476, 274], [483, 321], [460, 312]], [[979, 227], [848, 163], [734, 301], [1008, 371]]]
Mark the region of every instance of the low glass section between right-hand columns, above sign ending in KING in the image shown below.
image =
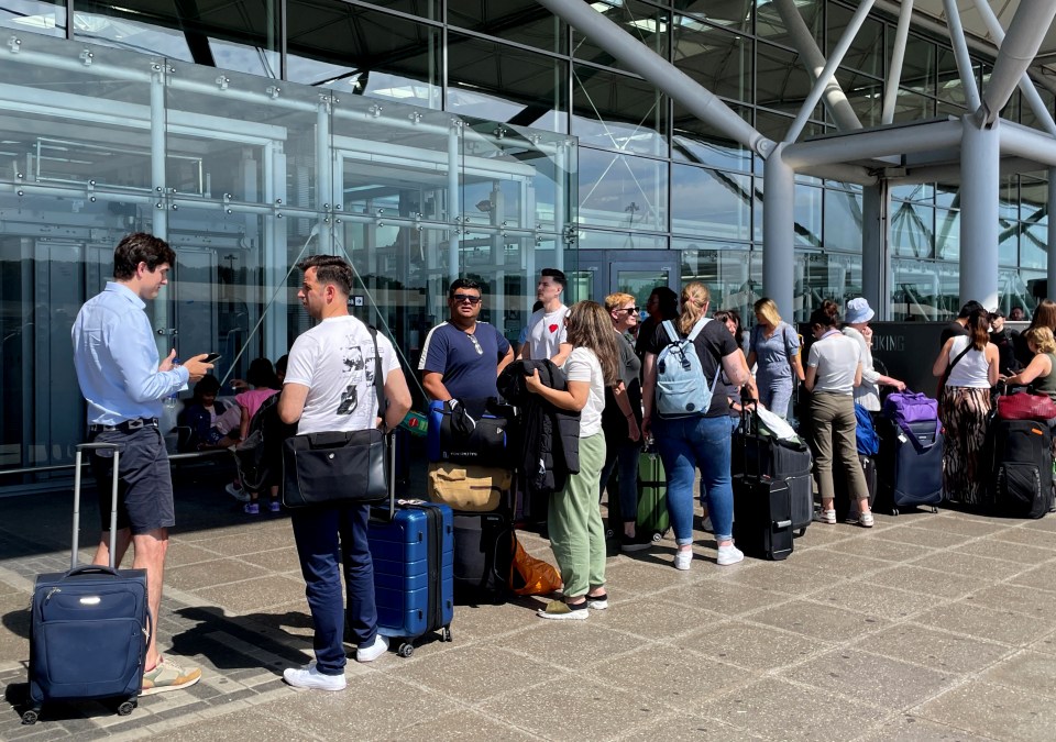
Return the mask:
[[956, 264], [898, 259], [891, 262], [891, 272], [892, 319], [932, 321], [957, 315], [960, 272]]

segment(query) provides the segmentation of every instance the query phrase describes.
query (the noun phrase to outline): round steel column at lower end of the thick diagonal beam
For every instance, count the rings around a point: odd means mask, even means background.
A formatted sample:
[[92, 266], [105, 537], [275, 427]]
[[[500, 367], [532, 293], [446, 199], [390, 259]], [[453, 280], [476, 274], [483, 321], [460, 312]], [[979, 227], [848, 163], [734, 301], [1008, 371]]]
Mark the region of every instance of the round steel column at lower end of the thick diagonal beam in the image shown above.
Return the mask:
[[763, 165], [762, 292], [778, 304], [781, 317], [794, 317], [792, 276], [795, 270], [795, 173], [779, 144]]

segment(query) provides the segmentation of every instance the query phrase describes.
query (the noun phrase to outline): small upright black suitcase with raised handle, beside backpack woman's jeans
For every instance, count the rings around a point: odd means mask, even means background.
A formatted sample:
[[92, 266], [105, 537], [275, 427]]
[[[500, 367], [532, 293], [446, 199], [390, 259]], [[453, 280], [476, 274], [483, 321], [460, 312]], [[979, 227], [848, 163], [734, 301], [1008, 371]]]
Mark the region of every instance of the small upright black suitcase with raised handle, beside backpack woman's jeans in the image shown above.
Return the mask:
[[[749, 430], [748, 413], [741, 413], [741, 429]], [[734, 487], [734, 542], [748, 556], [760, 560], [787, 560], [792, 553], [793, 521], [792, 490], [787, 480], [776, 479], [765, 473], [761, 461], [763, 442], [758, 428], [755, 438], [755, 462], [748, 459], [748, 446], [741, 438], [739, 454], [740, 470], [733, 477]]]

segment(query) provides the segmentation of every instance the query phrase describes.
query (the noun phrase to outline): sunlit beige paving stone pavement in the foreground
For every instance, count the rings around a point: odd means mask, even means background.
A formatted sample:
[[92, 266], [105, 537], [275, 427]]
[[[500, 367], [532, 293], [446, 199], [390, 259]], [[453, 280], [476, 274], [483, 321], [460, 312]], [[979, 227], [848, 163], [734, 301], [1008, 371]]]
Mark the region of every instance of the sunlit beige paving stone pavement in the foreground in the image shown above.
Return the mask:
[[0, 739], [1056, 739], [1054, 516], [815, 523], [787, 562], [733, 567], [697, 533], [690, 572], [666, 539], [609, 560], [610, 608], [587, 621], [541, 621], [535, 598], [460, 606], [452, 643], [351, 662], [348, 690], [322, 694], [280, 679], [311, 652], [288, 519], [243, 516], [220, 485], [177, 492], [158, 635], [201, 683], [130, 717], [80, 704], [32, 727], [29, 600], [68, 565], [69, 496], [0, 500]]

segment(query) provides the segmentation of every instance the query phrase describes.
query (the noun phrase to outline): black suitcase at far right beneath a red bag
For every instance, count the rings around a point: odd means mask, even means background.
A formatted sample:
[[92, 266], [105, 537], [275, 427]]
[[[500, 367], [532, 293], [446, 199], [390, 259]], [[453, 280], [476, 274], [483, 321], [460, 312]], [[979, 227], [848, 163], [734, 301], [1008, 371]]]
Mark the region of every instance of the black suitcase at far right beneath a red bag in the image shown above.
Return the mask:
[[994, 419], [993, 478], [990, 497], [993, 511], [1011, 518], [1042, 518], [1052, 507], [1053, 434], [1034, 420]]

